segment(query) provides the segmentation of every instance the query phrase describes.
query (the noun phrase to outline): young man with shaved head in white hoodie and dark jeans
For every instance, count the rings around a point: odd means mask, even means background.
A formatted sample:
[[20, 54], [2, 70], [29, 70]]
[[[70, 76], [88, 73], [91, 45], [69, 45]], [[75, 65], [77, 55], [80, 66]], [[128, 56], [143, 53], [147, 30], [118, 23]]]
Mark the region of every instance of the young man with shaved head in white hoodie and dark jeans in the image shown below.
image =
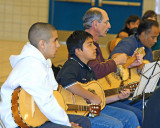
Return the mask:
[[58, 84], [49, 58], [54, 58], [60, 47], [57, 30], [51, 24], [37, 22], [30, 27], [28, 39], [30, 43], [20, 55], [10, 57], [13, 70], [1, 88], [0, 118], [6, 128], [18, 127], [11, 110], [12, 93], [17, 87], [29, 93], [48, 118], [40, 128], [90, 128], [87, 117], [67, 115], [53, 95]]

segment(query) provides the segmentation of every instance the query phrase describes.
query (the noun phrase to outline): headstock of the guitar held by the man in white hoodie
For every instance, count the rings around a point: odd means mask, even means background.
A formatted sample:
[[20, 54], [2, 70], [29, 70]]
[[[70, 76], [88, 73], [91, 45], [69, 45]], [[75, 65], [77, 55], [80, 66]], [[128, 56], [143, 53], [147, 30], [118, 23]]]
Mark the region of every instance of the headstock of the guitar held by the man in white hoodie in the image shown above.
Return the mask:
[[99, 116], [99, 113], [101, 111], [101, 106], [96, 104], [90, 104], [89, 105], [89, 117], [95, 117]]

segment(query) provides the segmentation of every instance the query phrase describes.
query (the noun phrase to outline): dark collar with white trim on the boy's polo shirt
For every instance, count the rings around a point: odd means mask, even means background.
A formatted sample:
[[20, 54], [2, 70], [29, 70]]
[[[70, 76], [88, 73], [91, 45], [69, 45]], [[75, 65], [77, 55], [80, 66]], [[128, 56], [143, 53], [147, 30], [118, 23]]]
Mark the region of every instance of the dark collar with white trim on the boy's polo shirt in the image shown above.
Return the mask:
[[73, 55], [72, 57], [70, 57], [70, 59], [76, 61], [82, 68], [85, 68], [88, 71], [92, 71], [91, 67], [83, 63], [76, 55]]

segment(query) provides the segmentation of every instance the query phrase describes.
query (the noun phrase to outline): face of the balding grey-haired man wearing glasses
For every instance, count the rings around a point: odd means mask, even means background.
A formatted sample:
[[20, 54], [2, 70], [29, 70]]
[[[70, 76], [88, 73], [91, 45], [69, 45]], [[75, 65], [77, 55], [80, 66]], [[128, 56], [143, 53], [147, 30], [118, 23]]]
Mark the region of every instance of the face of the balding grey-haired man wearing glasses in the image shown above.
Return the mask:
[[97, 27], [97, 33], [99, 37], [106, 36], [107, 32], [111, 28], [111, 24], [109, 23], [109, 17], [105, 11], [102, 11], [103, 20], [99, 23]]

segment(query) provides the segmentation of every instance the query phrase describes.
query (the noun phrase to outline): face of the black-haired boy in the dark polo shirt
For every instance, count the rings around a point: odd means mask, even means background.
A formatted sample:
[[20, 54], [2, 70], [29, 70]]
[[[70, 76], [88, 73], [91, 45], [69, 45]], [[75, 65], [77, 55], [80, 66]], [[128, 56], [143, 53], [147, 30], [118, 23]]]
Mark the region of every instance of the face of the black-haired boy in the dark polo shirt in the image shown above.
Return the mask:
[[88, 61], [96, 59], [96, 46], [93, 44], [92, 38], [86, 39], [83, 44], [83, 50], [80, 50], [80, 52], [79, 58], [86, 64]]

